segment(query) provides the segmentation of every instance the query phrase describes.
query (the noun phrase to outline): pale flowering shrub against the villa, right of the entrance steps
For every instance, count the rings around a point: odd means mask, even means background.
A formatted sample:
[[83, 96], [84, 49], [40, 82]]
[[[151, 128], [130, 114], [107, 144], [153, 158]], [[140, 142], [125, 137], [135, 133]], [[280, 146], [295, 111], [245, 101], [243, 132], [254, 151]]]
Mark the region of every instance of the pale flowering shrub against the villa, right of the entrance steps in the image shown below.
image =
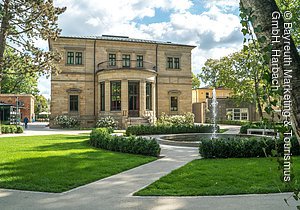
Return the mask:
[[184, 115], [167, 115], [162, 113], [161, 117], [157, 120], [157, 125], [190, 125], [194, 124], [195, 115], [187, 112]]

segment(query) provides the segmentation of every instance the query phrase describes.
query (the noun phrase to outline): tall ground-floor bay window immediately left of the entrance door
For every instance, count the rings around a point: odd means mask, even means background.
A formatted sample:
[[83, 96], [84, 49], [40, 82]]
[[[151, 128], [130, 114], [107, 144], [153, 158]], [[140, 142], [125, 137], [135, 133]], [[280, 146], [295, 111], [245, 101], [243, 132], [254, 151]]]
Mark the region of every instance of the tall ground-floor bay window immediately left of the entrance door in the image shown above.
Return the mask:
[[110, 82], [110, 95], [111, 111], [121, 110], [121, 81]]

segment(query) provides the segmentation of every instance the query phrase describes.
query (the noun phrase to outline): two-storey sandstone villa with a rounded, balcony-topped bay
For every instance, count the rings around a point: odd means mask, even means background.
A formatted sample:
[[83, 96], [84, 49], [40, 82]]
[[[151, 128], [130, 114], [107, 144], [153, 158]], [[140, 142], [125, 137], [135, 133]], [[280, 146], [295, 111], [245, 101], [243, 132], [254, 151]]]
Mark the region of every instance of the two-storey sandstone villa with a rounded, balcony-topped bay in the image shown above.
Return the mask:
[[51, 76], [50, 126], [58, 115], [84, 127], [112, 116], [124, 128], [191, 112], [194, 47], [110, 35], [49, 40], [63, 55]]

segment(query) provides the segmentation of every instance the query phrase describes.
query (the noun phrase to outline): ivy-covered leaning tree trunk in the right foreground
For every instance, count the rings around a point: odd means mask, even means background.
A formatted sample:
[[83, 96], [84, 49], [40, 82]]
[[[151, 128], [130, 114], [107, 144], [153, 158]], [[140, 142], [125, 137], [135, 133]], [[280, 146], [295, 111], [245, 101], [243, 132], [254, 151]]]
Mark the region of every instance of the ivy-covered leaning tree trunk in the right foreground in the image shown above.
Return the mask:
[[[274, 0], [240, 0], [240, 2], [243, 4], [245, 8], [252, 8], [254, 11], [254, 15], [257, 17], [257, 19], [252, 23], [254, 27], [261, 26], [262, 32], [256, 33], [257, 37], [265, 36], [267, 38], [267, 41], [270, 42], [272, 37], [272, 13], [277, 11], [280, 12], [276, 2]], [[282, 33], [284, 31], [284, 20], [282, 18], [282, 15], [280, 19], [278, 20], [278, 28], [280, 32]], [[280, 34], [279, 34], [280, 35]], [[282, 39], [282, 37], [280, 38]], [[283, 40], [283, 39], [282, 39]], [[300, 136], [300, 56], [297, 51], [297, 48], [291, 39], [291, 58], [292, 63], [290, 65], [290, 68], [292, 72], [293, 78], [291, 79], [291, 87], [292, 87], [292, 93], [291, 93], [291, 101], [292, 101], [292, 125], [294, 128], [294, 131], [298, 137]], [[274, 43], [273, 49], [278, 49], [280, 52], [283, 52], [283, 43]], [[281, 67], [281, 70], [284, 69], [283, 65], [283, 59], [280, 59], [279, 66]]]

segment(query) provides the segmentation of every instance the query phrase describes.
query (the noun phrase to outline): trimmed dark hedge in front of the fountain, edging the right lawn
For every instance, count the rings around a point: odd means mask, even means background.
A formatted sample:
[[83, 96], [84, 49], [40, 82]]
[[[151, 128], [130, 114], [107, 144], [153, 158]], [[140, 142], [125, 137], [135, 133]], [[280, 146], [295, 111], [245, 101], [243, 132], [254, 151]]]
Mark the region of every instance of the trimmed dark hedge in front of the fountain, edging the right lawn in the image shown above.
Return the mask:
[[[200, 139], [199, 153], [204, 158], [241, 158], [241, 157], [265, 157], [271, 155], [272, 150], [281, 154], [284, 151], [283, 140], [272, 138], [218, 138]], [[296, 137], [291, 138], [291, 153], [300, 155], [300, 147]]]

